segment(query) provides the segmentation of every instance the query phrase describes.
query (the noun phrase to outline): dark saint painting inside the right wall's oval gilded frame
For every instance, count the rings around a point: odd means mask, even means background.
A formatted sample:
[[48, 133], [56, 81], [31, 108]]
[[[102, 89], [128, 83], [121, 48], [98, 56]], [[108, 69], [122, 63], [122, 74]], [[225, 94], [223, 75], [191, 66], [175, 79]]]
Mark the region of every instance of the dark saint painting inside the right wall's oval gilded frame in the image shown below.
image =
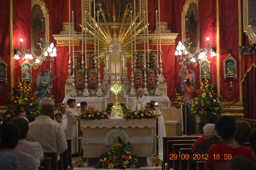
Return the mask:
[[188, 6], [186, 16], [185, 16], [185, 33], [188, 30], [188, 35], [190, 37], [190, 48], [189, 53], [195, 54], [198, 49], [199, 44], [199, 28], [198, 28], [198, 8], [197, 4], [191, 2]]

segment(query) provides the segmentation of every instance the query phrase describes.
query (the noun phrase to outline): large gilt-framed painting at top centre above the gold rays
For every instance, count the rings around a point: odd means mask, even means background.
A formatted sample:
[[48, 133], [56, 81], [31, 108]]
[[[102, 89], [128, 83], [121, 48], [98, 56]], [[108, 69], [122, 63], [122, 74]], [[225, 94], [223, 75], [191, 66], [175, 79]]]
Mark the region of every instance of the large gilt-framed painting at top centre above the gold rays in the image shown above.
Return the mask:
[[[146, 10], [146, 1], [147, 0], [86, 0], [86, 4], [84, 5], [84, 8], [86, 8], [87, 11], [90, 11], [90, 14], [92, 17], [94, 17], [94, 11], [100, 10], [100, 7], [102, 8], [102, 11], [104, 12], [104, 15], [106, 17], [107, 22], [121, 22], [123, 16], [125, 16], [125, 20], [130, 19], [130, 11], [134, 11], [134, 6], [136, 9], [136, 15], [139, 14], [138, 21], [141, 20], [141, 17], [143, 17], [143, 11]], [[135, 2], [135, 5], [134, 5]], [[95, 8], [94, 8], [95, 4]], [[125, 9], [127, 8], [126, 14]], [[95, 20], [97, 20], [97, 15], [95, 16]], [[102, 19], [102, 15], [99, 16]], [[87, 18], [89, 19], [89, 17]], [[100, 20], [101, 20], [100, 19]]]

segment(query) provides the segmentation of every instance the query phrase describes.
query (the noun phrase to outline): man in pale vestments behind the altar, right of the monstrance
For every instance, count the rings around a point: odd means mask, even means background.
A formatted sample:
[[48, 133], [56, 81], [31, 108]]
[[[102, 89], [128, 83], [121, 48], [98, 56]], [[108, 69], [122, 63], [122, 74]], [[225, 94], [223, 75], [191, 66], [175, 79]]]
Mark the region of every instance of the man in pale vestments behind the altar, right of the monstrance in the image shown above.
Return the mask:
[[147, 103], [150, 103], [150, 99], [144, 94], [143, 88], [138, 88], [138, 96], [133, 101], [132, 111], [145, 110]]

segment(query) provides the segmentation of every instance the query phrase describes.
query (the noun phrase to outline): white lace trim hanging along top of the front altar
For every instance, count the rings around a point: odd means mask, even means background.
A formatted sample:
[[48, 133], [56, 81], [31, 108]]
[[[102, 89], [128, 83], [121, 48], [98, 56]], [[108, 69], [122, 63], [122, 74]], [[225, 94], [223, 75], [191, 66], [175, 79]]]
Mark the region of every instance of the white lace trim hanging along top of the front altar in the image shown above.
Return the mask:
[[125, 119], [115, 117], [110, 119], [96, 119], [96, 120], [81, 120], [82, 128], [155, 128], [156, 123], [154, 118], [141, 118], [141, 119]]

